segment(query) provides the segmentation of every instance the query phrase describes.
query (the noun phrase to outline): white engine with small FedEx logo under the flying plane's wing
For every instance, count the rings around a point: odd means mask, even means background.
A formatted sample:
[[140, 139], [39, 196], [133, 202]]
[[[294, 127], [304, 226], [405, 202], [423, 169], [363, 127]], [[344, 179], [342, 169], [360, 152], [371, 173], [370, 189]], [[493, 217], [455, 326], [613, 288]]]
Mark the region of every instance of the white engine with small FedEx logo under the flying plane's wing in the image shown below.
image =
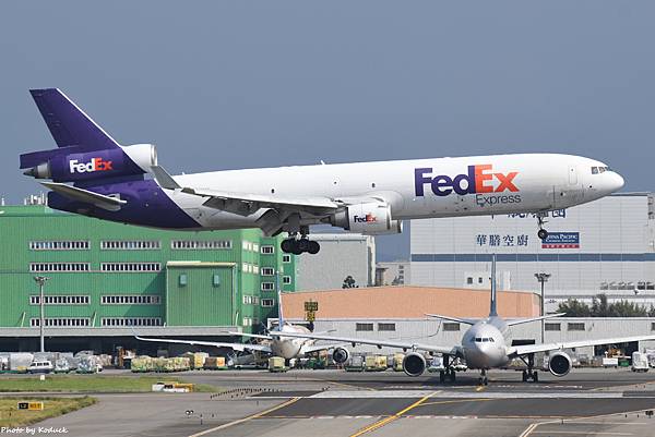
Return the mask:
[[330, 216], [330, 223], [365, 235], [403, 232], [403, 222], [393, 219], [391, 206], [383, 201], [348, 205]]

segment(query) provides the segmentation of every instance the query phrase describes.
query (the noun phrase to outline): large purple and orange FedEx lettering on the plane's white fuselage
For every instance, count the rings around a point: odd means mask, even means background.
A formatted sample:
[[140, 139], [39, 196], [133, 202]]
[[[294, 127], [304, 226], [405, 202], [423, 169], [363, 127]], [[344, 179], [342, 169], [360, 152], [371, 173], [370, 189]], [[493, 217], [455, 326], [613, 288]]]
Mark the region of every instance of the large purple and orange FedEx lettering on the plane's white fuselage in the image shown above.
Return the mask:
[[[476, 194], [476, 193], [501, 193], [503, 191], [517, 192], [514, 185], [514, 178], [517, 171], [509, 173], [495, 173], [492, 165], [483, 163], [468, 166], [465, 174], [457, 174], [451, 178], [446, 174], [430, 175], [432, 168], [414, 169], [414, 192], [417, 197], [425, 196], [425, 185], [430, 184], [432, 193], [437, 196], [448, 196], [453, 191], [456, 194]], [[495, 184], [493, 181], [498, 181]]]

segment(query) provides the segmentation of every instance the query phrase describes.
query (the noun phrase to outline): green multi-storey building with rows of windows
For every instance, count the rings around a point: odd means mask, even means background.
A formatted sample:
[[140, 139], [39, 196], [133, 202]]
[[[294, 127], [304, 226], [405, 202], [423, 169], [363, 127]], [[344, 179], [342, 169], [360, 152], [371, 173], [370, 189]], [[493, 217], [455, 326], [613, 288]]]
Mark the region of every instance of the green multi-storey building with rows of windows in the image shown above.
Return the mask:
[[[259, 229], [157, 230], [1, 206], [0, 351], [109, 352], [144, 336], [226, 340], [277, 316], [277, 287], [295, 291], [295, 258]], [[239, 339], [233, 339], [239, 340]], [[154, 345], [153, 345], [154, 344]]]

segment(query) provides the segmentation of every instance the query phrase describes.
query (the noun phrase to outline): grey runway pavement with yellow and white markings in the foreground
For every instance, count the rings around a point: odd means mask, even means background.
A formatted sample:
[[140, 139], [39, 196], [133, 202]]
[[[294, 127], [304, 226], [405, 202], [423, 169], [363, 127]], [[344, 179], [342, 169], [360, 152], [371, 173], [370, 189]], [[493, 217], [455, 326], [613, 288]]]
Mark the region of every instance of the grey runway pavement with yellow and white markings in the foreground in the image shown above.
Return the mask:
[[655, 409], [655, 373], [575, 369], [564, 378], [541, 374], [538, 384], [520, 376], [495, 372], [481, 387], [474, 373], [441, 385], [432, 375], [392, 372], [196, 372], [183, 377], [224, 391], [102, 394], [98, 405], [45, 424], [68, 423], [70, 437], [92, 429], [162, 437], [655, 436], [646, 415]]

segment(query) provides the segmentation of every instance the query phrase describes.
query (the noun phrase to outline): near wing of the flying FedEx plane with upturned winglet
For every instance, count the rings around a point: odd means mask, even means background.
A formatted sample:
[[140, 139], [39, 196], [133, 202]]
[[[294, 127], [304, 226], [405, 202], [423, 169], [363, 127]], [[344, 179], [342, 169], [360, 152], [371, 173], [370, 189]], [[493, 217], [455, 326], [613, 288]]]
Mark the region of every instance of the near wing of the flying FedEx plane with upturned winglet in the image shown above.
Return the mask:
[[203, 203], [210, 208], [221, 209], [240, 216], [250, 216], [261, 208], [284, 209], [287, 211], [303, 211], [314, 215], [334, 213], [341, 205], [327, 197], [321, 196], [277, 196], [267, 194], [237, 193], [228, 191], [199, 189], [193, 186], [181, 186], [177, 181], [159, 166], [153, 166], [153, 175], [157, 183], [168, 190], [179, 190], [182, 193], [206, 197]]

